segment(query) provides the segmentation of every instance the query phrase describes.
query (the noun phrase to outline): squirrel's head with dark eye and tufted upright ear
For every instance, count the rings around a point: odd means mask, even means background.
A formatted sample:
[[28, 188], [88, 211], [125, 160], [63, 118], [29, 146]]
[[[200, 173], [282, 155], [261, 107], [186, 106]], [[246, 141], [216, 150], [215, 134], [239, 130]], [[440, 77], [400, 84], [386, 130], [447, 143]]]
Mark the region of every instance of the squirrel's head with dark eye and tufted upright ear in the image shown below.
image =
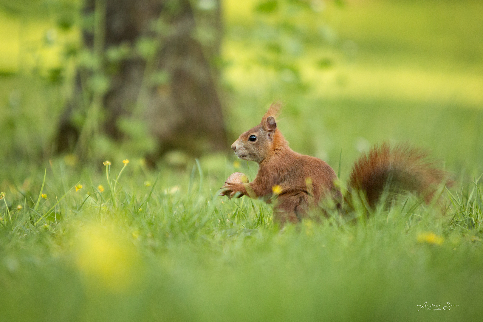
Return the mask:
[[275, 145], [283, 140], [275, 122], [280, 108], [281, 104], [278, 102], [271, 104], [260, 124], [241, 134], [238, 140], [233, 142], [231, 148], [240, 159], [260, 163], [270, 155]]

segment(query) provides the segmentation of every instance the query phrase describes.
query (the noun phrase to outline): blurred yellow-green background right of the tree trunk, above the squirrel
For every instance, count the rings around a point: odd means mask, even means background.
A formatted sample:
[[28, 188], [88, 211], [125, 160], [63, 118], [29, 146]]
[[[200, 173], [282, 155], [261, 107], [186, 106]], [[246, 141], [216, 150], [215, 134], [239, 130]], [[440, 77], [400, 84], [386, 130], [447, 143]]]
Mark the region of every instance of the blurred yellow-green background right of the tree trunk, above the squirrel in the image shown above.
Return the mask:
[[227, 1], [225, 9], [234, 137], [280, 98], [291, 146], [332, 166], [342, 149], [343, 175], [381, 140], [423, 145], [455, 172], [481, 169], [481, 2]]

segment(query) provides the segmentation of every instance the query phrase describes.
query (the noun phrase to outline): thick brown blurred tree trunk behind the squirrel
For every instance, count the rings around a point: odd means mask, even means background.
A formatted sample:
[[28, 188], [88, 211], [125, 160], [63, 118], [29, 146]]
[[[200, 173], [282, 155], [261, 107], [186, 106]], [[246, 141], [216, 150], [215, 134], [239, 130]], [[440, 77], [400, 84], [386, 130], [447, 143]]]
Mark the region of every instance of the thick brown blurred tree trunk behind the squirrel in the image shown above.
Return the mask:
[[[192, 154], [225, 149], [226, 131], [213, 76], [216, 73], [193, 36], [196, 25], [189, 0], [87, 0], [87, 17], [93, 15], [97, 1], [105, 3], [104, 51], [123, 46], [134, 48], [136, 43], [139, 47], [140, 39], [158, 44], [152, 59], [141, 55], [128, 55], [115, 63], [106, 59], [104, 70], [110, 86], [103, 96], [105, 133], [122, 140], [126, 133], [118, 126], [118, 120], [138, 117], [159, 142], [154, 153], [157, 156], [171, 149]], [[220, 1], [213, 3], [218, 5], [218, 10], [213, 11], [218, 19], [214, 26], [221, 28]], [[156, 26], [165, 26], [163, 35], [156, 33]], [[87, 48], [95, 51], [93, 32], [85, 31], [84, 41]], [[216, 42], [215, 46], [219, 46], [219, 39]], [[151, 82], [156, 71], [164, 71], [168, 81]], [[77, 84], [80, 92], [80, 77]], [[70, 124], [69, 116], [58, 137], [60, 151], [69, 144], [66, 136], [71, 135], [70, 140], [76, 138]]]

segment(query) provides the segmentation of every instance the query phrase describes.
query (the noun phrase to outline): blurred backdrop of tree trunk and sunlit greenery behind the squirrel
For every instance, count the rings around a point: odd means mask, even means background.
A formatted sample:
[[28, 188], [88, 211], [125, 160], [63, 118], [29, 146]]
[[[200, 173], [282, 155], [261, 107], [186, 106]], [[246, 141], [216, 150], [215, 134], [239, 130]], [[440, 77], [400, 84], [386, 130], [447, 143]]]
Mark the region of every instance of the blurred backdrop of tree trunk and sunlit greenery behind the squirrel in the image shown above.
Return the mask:
[[477, 173], [483, 2], [0, 0], [3, 178], [55, 158], [223, 167], [275, 99], [292, 149], [343, 176], [382, 140]]

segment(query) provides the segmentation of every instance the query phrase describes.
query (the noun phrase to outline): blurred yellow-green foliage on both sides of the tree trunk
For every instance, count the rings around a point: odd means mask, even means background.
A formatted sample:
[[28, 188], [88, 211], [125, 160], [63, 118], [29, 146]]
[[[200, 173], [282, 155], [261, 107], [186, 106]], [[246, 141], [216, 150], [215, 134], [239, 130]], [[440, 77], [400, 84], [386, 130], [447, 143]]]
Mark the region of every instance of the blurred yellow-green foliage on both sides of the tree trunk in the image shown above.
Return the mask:
[[[204, 22], [212, 2], [192, 2], [197, 37], [205, 41], [214, 37]], [[0, 128], [11, 139], [2, 141], [0, 159], [52, 156], [48, 142], [71, 99], [75, 66], [95, 66], [79, 42], [89, 17], [81, 18], [77, 1], [2, 0], [1, 8], [0, 55], [6, 59], [0, 63], [0, 109], [5, 111]], [[292, 147], [332, 165], [342, 149], [343, 175], [363, 150], [357, 142], [367, 146], [381, 140], [426, 146], [455, 172], [481, 169], [481, 2], [227, 0], [222, 9], [221, 60], [213, 63], [221, 68], [220, 93], [232, 139], [258, 123], [272, 100], [282, 99], [286, 106], [279, 126]], [[137, 51], [142, 55], [149, 43], [139, 40]], [[115, 63], [131, 50], [109, 48], [105, 56]], [[148, 81], [169, 80], [155, 73]], [[92, 88], [105, 88], [106, 82], [94, 77]], [[9, 112], [11, 102], [18, 102], [16, 112]], [[25, 118], [39, 114], [44, 119], [20, 122], [14, 115], [19, 111]], [[78, 122], [85, 117], [79, 114]], [[118, 145], [101, 138], [102, 157], [119, 150], [124, 151], [116, 157], [138, 157], [152, 149], [146, 131], [122, 127], [135, 139]], [[39, 140], [43, 145], [33, 143]]]

